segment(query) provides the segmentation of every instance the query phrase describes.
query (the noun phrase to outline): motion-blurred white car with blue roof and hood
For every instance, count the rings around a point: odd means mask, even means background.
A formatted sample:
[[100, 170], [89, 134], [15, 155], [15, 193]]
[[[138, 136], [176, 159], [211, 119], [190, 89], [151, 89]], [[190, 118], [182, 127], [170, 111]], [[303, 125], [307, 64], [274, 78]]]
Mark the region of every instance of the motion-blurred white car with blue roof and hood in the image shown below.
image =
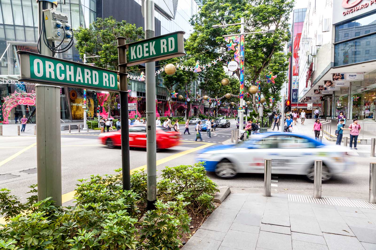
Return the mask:
[[272, 174], [306, 175], [314, 180], [314, 160], [323, 161], [322, 180], [346, 171], [353, 162], [348, 149], [327, 145], [305, 135], [267, 132], [252, 135], [238, 145], [218, 145], [199, 151], [197, 160], [208, 172], [221, 178], [238, 173], [264, 173], [264, 160], [271, 159]]

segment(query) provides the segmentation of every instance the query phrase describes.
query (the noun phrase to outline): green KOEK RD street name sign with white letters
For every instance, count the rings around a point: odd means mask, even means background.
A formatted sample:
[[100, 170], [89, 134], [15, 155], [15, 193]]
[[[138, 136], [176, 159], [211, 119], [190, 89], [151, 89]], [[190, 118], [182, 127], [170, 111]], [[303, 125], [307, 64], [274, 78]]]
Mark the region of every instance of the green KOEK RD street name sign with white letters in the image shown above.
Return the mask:
[[126, 66], [185, 55], [184, 34], [184, 31], [177, 31], [122, 45], [128, 49], [128, 63], [126, 63]]

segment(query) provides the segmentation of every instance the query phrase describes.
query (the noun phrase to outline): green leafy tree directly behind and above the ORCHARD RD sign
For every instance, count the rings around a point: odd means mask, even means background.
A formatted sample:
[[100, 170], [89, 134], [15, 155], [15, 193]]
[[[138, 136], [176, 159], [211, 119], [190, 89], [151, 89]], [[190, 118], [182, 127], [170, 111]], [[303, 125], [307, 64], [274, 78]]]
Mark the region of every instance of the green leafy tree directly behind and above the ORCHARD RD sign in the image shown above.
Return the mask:
[[[126, 21], [118, 22], [112, 16], [108, 18], [97, 18], [88, 28], [80, 27], [74, 33], [76, 48], [80, 58], [99, 55], [99, 58], [91, 58], [91, 63], [105, 69], [118, 70], [117, 37], [126, 38], [126, 43], [135, 42], [144, 37], [142, 27], [129, 24]], [[132, 69], [132, 68], [129, 68]], [[108, 117], [111, 116], [116, 93], [110, 92], [105, 102], [108, 109]]]

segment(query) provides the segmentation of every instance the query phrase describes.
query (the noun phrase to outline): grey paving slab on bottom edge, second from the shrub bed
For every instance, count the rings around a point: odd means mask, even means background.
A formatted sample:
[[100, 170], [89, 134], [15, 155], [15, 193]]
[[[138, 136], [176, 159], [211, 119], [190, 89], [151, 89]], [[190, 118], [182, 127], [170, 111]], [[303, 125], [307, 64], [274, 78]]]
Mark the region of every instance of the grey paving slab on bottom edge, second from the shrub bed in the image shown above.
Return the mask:
[[258, 234], [229, 230], [221, 246], [241, 250], [253, 250], [256, 248], [257, 238]]

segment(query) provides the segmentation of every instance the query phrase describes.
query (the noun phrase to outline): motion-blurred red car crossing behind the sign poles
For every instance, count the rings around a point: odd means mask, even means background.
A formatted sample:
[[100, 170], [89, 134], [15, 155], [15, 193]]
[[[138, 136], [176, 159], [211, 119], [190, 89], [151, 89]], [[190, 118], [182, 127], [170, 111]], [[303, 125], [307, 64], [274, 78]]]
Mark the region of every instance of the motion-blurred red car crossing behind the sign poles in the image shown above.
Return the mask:
[[[102, 133], [98, 137], [101, 144], [109, 148], [121, 146], [120, 130]], [[156, 127], [157, 150], [179, 145], [179, 132], [169, 131], [164, 127]], [[129, 127], [129, 147], [146, 148], [146, 126], [133, 125]]]

